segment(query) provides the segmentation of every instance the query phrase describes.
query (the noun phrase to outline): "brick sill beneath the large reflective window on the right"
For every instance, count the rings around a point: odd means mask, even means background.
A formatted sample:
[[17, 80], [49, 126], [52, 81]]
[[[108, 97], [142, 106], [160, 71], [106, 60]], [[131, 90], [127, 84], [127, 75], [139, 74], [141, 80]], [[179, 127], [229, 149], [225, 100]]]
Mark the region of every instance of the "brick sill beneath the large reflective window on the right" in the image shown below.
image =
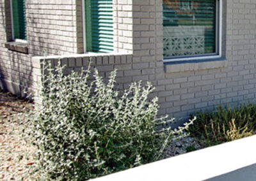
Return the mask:
[[195, 61], [164, 62], [166, 73], [223, 68], [225, 66], [227, 66], [227, 59], [223, 57], [218, 59], [203, 59]]

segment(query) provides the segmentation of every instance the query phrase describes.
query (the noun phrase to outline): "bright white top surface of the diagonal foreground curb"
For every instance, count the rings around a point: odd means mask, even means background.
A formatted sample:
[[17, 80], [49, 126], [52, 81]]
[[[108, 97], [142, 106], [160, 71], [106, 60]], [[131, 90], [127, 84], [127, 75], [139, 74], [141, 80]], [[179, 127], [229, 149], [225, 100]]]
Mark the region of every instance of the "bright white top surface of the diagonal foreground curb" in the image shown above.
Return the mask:
[[[93, 181], [206, 180], [256, 164], [255, 143], [256, 136], [251, 136], [177, 157], [171, 157], [156, 163], [145, 164], [138, 168], [120, 171], [106, 177], [96, 178]], [[250, 173], [253, 173], [253, 175], [246, 176], [248, 180], [256, 179], [256, 170]], [[236, 180], [236, 178], [232, 178], [232, 180]], [[237, 180], [240, 179], [237, 177]]]

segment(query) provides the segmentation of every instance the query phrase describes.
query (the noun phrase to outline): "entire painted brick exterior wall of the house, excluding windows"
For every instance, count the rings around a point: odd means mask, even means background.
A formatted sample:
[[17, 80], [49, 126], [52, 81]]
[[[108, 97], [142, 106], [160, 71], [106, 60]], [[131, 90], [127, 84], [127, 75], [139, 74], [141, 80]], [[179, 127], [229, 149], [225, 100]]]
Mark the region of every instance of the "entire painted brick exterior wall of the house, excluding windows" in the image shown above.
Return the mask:
[[[45, 57], [35, 56], [44, 55], [45, 48], [47, 55], [62, 55], [46, 59], [61, 59], [68, 71], [86, 66], [83, 60], [88, 57], [93, 57], [93, 66], [102, 76], [118, 69], [120, 89], [134, 81], [152, 82], [156, 87], [152, 96], [159, 97], [160, 115], [188, 117], [196, 110], [255, 101], [256, 2], [223, 1], [222, 59], [186, 63], [163, 62], [162, 0], [113, 0], [115, 52], [99, 55], [71, 55], [83, 53], [82, 1], [27, 2], [29, 55], [0, 47], [1, 72], [8, 78], [15, 75], [14, 69], [8, 71], [11, 55], [20, 55], [19, 61], [23, 58], [28, 69], [33, 67], [36, 76], [30, 79], [38, 82], [40, 62]], [[3, 25], [0, 31], [3, 44]], [[16, 65], [22, 64], [17, 59]]]

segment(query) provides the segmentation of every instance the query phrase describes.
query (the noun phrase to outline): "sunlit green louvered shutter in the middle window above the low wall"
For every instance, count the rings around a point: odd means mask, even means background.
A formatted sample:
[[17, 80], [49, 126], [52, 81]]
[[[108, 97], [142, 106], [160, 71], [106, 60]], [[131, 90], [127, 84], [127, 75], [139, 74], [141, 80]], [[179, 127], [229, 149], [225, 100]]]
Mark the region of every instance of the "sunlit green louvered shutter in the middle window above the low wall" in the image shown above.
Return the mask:
[[86, 51], [113, 52], [112, 0], [85, 0]]

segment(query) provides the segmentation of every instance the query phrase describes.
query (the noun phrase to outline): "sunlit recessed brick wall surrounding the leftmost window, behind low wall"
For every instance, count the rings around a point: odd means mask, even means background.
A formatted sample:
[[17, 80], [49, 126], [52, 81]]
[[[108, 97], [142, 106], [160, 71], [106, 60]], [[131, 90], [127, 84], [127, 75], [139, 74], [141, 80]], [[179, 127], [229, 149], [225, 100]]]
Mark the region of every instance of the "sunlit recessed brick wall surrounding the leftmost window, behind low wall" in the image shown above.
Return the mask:
[[83, 45], [77, 41], [83, 35], [77, 33], [82, 22], [77, 22], [76, 8], [74, 0], [27, 0], [28, 54], [24, 54], [6, 48], [5, 44], [12, 42], [10, 0], [0, 2], [0, 87], [24, 96], [24, 91], [35, 89], [33, 82], [37, 81], [33, 78], [31, 57], [83, 51]]

